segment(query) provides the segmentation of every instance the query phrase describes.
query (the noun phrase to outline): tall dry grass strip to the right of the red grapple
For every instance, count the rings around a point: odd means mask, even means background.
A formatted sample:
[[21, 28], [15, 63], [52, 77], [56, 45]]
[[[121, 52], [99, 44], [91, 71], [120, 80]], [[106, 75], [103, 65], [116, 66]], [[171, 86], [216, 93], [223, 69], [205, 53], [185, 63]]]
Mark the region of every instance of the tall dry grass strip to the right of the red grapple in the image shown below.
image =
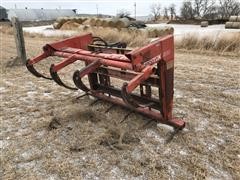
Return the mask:
[[187, 34], [176, 42], [176, 48], [218, 53], [232, 52], [240, 55], [240, 32], [224, 33], [219, 36]]

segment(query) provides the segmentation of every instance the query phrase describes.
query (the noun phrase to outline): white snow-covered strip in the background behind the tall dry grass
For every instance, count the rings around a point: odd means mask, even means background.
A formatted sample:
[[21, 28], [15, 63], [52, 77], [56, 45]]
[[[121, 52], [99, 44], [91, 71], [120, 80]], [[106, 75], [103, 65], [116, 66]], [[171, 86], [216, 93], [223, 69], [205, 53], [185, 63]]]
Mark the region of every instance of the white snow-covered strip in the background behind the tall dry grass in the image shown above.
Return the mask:
[[[183, 35], [194, 33], [201, 36], [205, 35], [220, 35], [222, 33], [229, 32], [240, 32], [240, 29], [225, 29], [225, 25], [210, 25], [206, 28], [201, 28], [200, 25], [186, 25], [186, 24], [147, 24], [148, 27], [161, 28], [165, 26], [170, 26], [174, 28], [174, 34], [177, 37], [182, 37]], [[23, 30], [29, 33], [39, 33], [45, 36], [62, 36], [62, 35], [75, 35], [76, 31], [70, 30], [56, 30], [52, 25], [47, 26], [37, 26], [37, 27], [24, 27]]]

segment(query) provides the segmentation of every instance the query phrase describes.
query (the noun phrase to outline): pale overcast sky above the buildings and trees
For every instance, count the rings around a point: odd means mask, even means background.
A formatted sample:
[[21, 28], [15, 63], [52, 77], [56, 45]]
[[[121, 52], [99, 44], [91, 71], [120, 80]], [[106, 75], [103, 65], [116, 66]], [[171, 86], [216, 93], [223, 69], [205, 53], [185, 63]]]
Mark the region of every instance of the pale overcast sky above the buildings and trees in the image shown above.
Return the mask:
[[0, 0], [1, 6], [12, 9], [25, 7], [32, 9], [77, 9], [78, 13], [116, 15], [120, 9], [126, 9], [134, 15], [134, 2], [137, 4], [137, 16], [150, 14], [150, 5], [156, 2], [161, 3], [162, 7], [176, 4], [177, 11], [183, 0]]

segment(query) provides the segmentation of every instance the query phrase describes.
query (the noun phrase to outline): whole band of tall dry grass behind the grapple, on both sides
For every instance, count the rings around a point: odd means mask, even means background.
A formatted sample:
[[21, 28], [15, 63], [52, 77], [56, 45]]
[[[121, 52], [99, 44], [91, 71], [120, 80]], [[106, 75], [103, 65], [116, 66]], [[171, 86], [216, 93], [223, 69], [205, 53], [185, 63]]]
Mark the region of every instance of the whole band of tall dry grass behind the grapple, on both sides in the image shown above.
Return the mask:
[[[76, 30], [76, 28], [74, 27]], [[71, 30], [71, 29], [68, 29]], [[4, 25], [0, 27], [3, 34], [13, 35], [11, 26]], [[126, 42], [129, 47], [141, 47], [150, 42], [150, 38], [144, 31], [128, 31], [127, 29], [118, 30], [116, 28], [102, 28], [82, 26], [78, 29], [79, 34], [92, 33], [94, 36], [100, 36], [108, 42], [122, 41]], [[49, 38], [39, 33], [24, 32], [24, 36], [31, 38]], [[64, 39], [69, 35], [61, 35], [55, 38]], [[222, 55], [231, 54], [240, 55], [240, 32], [224, 33], [216, 36], [199, 36], [197, 34], [187, 34], [183, 38], [176, 40], [175, 47], [177, 49], [198, 51], [201, 53], [217, 52]]]

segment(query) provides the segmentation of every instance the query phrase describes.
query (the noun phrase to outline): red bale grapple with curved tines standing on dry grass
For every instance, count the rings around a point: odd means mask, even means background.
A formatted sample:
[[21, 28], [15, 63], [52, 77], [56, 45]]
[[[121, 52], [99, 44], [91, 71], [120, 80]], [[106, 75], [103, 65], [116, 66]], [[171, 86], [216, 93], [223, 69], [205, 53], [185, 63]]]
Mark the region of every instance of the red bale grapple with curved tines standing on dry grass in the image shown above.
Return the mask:
[[[64, 58], [61, 62], [51, 65], [51, 78], [40, 74], [33, 67], [49, 56]], [[63, 83], [58, 71], [75, 61], [84, 61], [85, 67], [73, 73], [76, 87], [70, 87]], [[92, 34], [76, 36], [46, 44], [43, 53], [29, 59], [26, 66], [36, 77], [52, 79], [65, 88], [81, 89], [85, 92], [84, 95], [123, 106], [130, 109], [130, 112], [139, 112], [176, 129], [183, 129], [185, 126], [184, 121], [172, 115], [174, 84], [172, 35], [158, 38], [134, 50], [127, 49], [126, 44], [121, 42], [108, 44], [99, 37], [93, 37]], [[88, 77], [89, 86], [82, 81], [85, 76]], [[120, 88], [113, 85], [116, 78], [124, 81]], [[157, 95], [153, 95], [153, 89]]]

